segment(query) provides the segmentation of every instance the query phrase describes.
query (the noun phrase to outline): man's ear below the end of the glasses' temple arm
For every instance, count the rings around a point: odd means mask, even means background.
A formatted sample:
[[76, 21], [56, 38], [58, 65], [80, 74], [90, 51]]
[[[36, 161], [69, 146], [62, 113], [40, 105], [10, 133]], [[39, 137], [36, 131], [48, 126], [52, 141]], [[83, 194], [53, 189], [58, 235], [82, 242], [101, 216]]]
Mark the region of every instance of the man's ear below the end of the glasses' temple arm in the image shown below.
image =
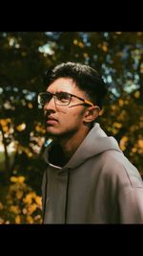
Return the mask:
[[91, 123], [92, 121], [94, 121], [97, 118], [99, 113], [100, 113], [100, 108], [98, 105], [90, 106], [90, 107], [88, 107], [88, 109], [85, 112], [83, 121], [85, 123]]

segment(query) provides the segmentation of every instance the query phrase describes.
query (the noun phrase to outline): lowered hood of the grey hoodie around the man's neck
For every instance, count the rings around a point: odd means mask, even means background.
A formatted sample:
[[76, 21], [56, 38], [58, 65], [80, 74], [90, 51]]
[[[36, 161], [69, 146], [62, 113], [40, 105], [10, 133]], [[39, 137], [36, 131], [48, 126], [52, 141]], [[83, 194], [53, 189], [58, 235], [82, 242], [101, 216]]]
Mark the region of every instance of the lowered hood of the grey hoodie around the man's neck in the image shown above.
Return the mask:
[[[45, 160], [52, 167], [62, 169], [56, 164], [51, 164], [50, 155], [54, 151], [54, 157], [59, 158], [60, 148], [54, 141], [48, 146], [45, 151]], [[98, 123], [94, 123], [93, 128], [89, 131], [88, 135], [82, 141], [78, 149], [72, 155], [70, 161], [64, 166], [64, 168], [77, 168], [83, 164], [86, 160], [104, 151], [119, 151], [123, 153], [118, 146], [117, 141], [112, 136], [107, 136], [107, 134], [100, 128]]]

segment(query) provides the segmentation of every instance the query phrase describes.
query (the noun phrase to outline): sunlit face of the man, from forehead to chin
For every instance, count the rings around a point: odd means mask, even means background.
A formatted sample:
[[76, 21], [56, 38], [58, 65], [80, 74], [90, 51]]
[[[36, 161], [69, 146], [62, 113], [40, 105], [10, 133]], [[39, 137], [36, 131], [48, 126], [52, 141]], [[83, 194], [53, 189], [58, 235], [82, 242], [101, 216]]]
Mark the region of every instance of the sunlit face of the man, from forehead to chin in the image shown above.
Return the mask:
[[[68, 92], [83, 99], [87, 99], [86, 93], [81, 91], [70, 78], [59, 78], [47, 88], [48, 92]], [[78, 105], [79, 104], [79, 105]], [[70, 105], [55, 105], [53, 97], [44, 105], [46, 131], [50, 136], [67, 136], [84, 127], [84, 116], [87, 110], [85, 105], [72, 97]], [[72, 106], [72, 107], [71, 107]]]

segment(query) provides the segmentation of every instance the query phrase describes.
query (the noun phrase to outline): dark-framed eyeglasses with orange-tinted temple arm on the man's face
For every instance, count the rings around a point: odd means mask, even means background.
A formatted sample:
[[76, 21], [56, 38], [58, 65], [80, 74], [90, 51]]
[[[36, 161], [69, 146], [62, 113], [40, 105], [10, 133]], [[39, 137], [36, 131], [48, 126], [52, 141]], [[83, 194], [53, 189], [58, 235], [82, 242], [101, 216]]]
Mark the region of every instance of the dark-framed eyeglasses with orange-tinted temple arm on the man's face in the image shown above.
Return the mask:
[[40, 105], [46, 105], [50, 103], [51, 98], [54, 98], [54, 103], [55, 105], [70, 105], [72, 101], [72, 97], [77, 98], [78, 100], [82, 101], [85, 105], [92, 105], [92, 102], [89, 100], [82, 99], [76, 95], [73, 95], [68, 92], [56, 92], [56, 93], [51, 93], [51, 92], [41, 92], [38, 95], [38, 104]]

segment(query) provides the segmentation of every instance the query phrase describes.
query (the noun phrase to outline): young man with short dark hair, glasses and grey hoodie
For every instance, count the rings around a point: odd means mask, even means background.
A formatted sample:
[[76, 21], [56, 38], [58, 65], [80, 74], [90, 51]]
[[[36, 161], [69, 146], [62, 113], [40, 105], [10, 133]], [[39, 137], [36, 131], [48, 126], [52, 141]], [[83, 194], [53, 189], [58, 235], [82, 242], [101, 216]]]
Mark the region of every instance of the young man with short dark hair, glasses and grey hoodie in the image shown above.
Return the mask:
[[43, 176], [44, 223], [143, 223], [143, 182], [95, 119], [106, 87], [88, 65], [57, 65], [43, 105], [51, 144]]

